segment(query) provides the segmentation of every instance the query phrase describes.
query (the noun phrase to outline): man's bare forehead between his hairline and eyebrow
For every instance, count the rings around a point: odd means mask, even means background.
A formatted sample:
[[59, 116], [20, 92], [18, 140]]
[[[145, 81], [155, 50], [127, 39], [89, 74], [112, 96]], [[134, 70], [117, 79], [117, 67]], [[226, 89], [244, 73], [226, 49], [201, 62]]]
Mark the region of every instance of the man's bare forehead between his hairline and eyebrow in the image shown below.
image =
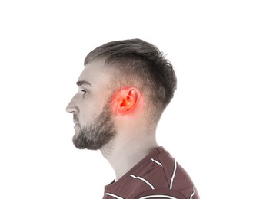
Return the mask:
[[81, 72], [78, 82], [86, 81], [91, 84], [91, 87], [109, 85], [111, 78], [108, 68], [105, 67], [105, 60], [94, 60], [85, 65]]

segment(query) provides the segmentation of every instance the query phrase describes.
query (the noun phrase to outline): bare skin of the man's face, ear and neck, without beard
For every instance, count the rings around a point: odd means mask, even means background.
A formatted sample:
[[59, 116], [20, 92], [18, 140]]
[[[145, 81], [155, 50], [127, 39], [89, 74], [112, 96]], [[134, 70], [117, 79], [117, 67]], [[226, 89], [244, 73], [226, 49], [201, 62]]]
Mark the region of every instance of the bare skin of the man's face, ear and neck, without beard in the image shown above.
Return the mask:
[[104, 64], [104, 60], [94, 60], [85, 65], [78, 78], [78, 93], [71, 99], [66, 110], [74, 115], [74, 138], [77, 138], [81, 129], [97, 122], [97, 116], [111, 99], [109, 107], [116, 133], [99, 149], [114, 169], [115, 181], [118, 181], [158, 147], [155, 139], [157, 122], [148, 123], [148, 119], [145, 119], [147, 99], [144, 99], [135, 86], [126, 85], [123, 90], [117, 90], [118, 93], [113, 94], [115, 91], [111, 90], [111, 70]]

